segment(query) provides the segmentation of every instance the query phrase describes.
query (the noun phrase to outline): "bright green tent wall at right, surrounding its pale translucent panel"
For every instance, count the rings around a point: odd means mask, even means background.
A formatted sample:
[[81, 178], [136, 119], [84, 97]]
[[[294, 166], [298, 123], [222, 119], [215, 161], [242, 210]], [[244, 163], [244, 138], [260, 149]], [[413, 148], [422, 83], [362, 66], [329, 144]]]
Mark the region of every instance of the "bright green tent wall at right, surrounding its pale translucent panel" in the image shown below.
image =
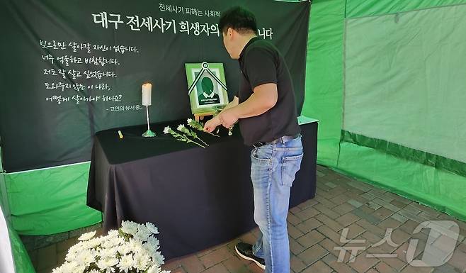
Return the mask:
[[[377, 145], [375, 143], [378, 140], [371, 138], [354, 141], [355, 138], [347, 137], [351, 134], [341, 130], [343, 88], [345, 81], [348, 83], [354, 80], [345, 78], [344, 74], [345, 50], [348, 50], [344, 47], [344, 38], [348, 20], [465, 3], [464, 0], [312, 2], [307, 52], [307, 93], [303, 114], [321, 120], [318, 138], [319, 164], [445, 211], [462, 220], [466, 219], [466, 177], [458, 174], [464, 170], [464, 163], [455, 162], [458, 163], [453, 164], [455, 167], [444, 168], [442, 165], [448, 164], [441, 160], [429, 161], [432, 156], [426, 152], [407, 149], [414, 154], [407, 156], [404, 154], [406, 149], [392, 152], [396, 149], [387, 148], [390, 143]], [[465, 16], [466, 14], [462, 14], [463, 18]], [[360, 43], [366, 43], [365, 39], [361, 39]], [[464, 89], [465, 82], [458, 84], [462, 84]], [[360, 111], [364, 111], [364, 108]], [[390, 112], [385, 114], [393, 115]]]

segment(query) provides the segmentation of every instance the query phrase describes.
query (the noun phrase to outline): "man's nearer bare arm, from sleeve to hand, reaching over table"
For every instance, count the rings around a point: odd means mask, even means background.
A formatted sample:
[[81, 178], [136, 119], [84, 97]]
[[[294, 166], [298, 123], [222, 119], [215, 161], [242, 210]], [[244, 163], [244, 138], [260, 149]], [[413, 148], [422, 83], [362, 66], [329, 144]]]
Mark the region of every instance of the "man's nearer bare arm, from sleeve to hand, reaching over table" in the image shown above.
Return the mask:
[[[235, 97], [235, 99], [237, 99], [237, 97]], [[275, 106], [277, 100], [277, 84], [261, 84], [254, 88], [254, 93], [249, 96], [249, 99], [241, 104], [237, 104], [237, 106], [225, 108], [220, 114], [215, 116], [215, 118], [205, 123], [204, 130], [212, 132], [220, 125], [229, 128], [237, 122], [239, 118], [259, 116]]]

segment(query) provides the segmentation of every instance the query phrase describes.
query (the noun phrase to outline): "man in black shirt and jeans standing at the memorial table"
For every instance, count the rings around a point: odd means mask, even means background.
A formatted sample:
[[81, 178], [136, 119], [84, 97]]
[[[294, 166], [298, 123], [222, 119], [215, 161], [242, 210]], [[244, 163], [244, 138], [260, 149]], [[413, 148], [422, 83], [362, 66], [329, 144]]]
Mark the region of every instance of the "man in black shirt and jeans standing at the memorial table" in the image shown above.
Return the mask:
[[288, 273], [290, 249], [286, 217], [290, 188], [300, 169], [302, 144], [290, 72], [277, 48], [257, 36], [254, 14], [234, 7], [219, 23], [225, 49], [239, 60], [239, 91], [225, 109], [205, 123], [212, 132], [237, 121], [251, 152], [254, 221], [261, 236], [254, 245], [239, 243], [239, 256], [266, 272]]

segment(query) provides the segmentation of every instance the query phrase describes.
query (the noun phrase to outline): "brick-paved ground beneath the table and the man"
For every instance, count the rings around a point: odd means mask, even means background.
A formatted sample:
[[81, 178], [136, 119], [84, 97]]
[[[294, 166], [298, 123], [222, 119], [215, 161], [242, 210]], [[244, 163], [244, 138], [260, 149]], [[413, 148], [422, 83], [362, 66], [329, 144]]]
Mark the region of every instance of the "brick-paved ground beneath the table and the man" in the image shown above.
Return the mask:
[[[317, 169], [316, 197], [292, 208], [288, 214], [291, 272], [466, 272], [465, 222], [369, 184], [344, 177], [326, 167], [318, 166]], [[430, 235], [430, 239], [435, 239], [433, 242], [428, 240], [428, 228], [413, 234], [419, 223], [441, 220], [454, 221], [460, 228], [453, 257], [438, 267], [409, 265], [407, 254], [411, 251], [408, 251], [408, 245], [413, 239], [419, 240], [418, 246], [412, 251], [417, 258], [414, 260], [421, 260], [427, 247], [448, 251], [448, 244], [453, 240], [445, 240], [445, 236], [440, 236], [440, 233]], [[100, 228], [101, 225], [94, 225], [69, 233], [25, 236], [22, 239], [37, 272], [49, 273], [53, 267], [64, 261], [67, 249], [76, 243], [76, 238], [81, 233]], [[382, 240], [388, 238], [387, 228], [392, 229], [392, 242]], [[254, 243], [257, 233], [257, 229], [251, 230], [223, 245], [168, 261], [164, 269], [170, 269], [174, 273], [263, 272], [256, 264], [241, 260], [234, 252], [234, 245], [239, 240]], [[339, 256], [345, 249], [348, 251], [344, 260], [339, 262]], [[356, 255], [350, 254], [352, 249], [358, 250]]]

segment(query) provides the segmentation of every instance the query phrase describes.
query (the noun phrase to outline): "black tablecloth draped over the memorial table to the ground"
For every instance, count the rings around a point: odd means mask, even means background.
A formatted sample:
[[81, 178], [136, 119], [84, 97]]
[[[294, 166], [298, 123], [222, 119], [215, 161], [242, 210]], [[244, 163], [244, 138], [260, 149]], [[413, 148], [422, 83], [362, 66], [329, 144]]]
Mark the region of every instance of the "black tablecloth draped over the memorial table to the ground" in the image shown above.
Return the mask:
[[[232, 136], [221, 130], [221, 138], [198, 132], [210, 144], [205, 149], [162, 133], [164, 126], [176, 129], [183, 122], [153, 124], [155, 138], [142, 138], [147, 126], [96, 133], [89, 173], [87, 205], [103, 212], [104, 230], [118, 228], [123, 220], [154, 223], [167, 259], [226, 242], [256, 226], [251, 147], [237, 129]], [[301, 129], [305, 155], [290, 207], [315, 194], [317, 122]]]

